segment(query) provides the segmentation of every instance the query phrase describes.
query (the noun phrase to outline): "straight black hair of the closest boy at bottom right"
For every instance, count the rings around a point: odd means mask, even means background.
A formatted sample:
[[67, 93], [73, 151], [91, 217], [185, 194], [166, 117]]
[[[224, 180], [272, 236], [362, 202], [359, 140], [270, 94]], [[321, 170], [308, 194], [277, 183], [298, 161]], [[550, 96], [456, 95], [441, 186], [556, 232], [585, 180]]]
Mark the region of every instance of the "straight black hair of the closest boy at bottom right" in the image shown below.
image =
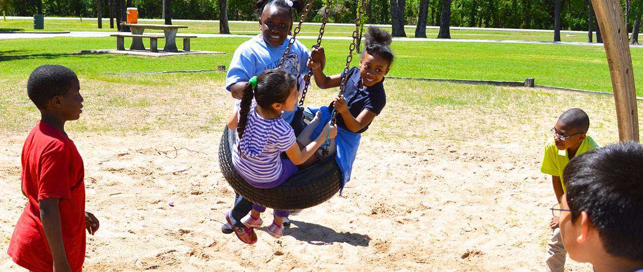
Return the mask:
[[572, 220], [586, 212], [608, 254], [643, 262], [643, 145], [617, 143], [580, 154], [563, 180]]

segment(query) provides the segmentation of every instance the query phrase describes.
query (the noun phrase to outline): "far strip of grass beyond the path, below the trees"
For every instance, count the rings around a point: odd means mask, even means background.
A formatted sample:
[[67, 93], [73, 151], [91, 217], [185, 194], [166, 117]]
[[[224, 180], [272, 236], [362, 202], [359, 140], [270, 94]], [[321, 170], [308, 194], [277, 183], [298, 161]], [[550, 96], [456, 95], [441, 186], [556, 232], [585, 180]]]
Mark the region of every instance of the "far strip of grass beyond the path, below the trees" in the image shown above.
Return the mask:
[[[160, 24], [158, 21], [145, 21], [139, 20], [140, 23]], [[188, 26], [187, 30], [181, 32], [190, 33], [219, 33], [219, 23], [212, 22], [175, 22]], [[73, 20], [47, 20], [45, 18], [44, 30], [35, 31], [115, 31], [109, 28], [109, 21], [103, 21], [103, 28], [98, 29], [96, 20], [73, 19]], [[390, 32], [390, 28], [385, 28]], [[0, 31], [34, 31], [33, 20], [28, 19], [8, 19], [0, 21]], [[353, 26], [326, 26], [324, 35], [336, 37], [350, 37], [354, 30]], [[147, 30], [146, 30], [147, 32]], [[149, 30], [149, 32], [154, 32]], [[259, 33], [258, 25], [254, 23], [230, 23], [230, 32], [233, 34], [257, 34]], [[306, 25], [302, 26], [300, 35], [316, 36], [319, 32], [319, 26]], [[414, 37], [415, 29], [407, 28], [406, 35]], [[435, 38], [438, 35], [438, 30], [426, 30], [426, 36]], [[561, 35], [563, 42], [587, 42], [587, 34], [571, 34], [575, 37], [568, 37], [565, 33]], [[542, 32], [500, 32], [489, 30], [451, 30], [452, 39], [484, 39], [484, 40], [516, 40], [516, 41], [553, 41], [553, 33]], [[594, 38], [593, 41], [596, 41]]]

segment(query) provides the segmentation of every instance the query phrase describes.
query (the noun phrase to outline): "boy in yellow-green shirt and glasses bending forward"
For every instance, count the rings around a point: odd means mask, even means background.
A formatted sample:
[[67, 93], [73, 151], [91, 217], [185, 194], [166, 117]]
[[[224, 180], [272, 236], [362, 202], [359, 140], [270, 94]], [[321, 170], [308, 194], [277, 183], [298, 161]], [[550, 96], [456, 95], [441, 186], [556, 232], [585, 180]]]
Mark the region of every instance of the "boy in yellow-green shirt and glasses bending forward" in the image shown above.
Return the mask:
[[[589, 127], [590, 118], [582, 109], [568, 109], [561, 114], [551, 130], [554, 138], [545, 144], [540, 171], [552, 176], [552, 185], [558, 203], [561, 203], [561, 197], [566, 192], [562, 177], [567, 163], [575, 156], [599, 147], [590, 136], [587, 136]], [[552, 228], [552, 237], [548, 242], [545, 271], [563, 272], [567, 251], [558, 228], [558, 217], [552, 217], [549, 226]]]

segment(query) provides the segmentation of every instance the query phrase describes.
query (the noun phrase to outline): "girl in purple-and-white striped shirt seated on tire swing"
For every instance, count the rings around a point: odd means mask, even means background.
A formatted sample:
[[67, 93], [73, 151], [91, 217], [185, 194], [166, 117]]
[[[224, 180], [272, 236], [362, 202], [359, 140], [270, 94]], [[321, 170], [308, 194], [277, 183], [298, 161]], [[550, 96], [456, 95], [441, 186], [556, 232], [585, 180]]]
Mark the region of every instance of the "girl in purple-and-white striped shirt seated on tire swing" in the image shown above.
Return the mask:
[[[298, 94], [296, 80], [290, 73], [276, 69], [263, 71], [250, 79], [237, 111], [228, 119], [228, 127], [236, 128], [239, 135], [232, 152], [232, 164], [250, 185], [257, 188], [281, 185], [297, 172], [296, 165], [309, 159], [327, 137], [334, 138], [337, 134], [337, 128], [329, 122], [314, 141], [300, 149], [293, 128], [281, 118], [282, 111], [294, 110]], [[280, 158], [281, 152], [289, 159]], [[241, 222], [249, 228], [258, 228], [264, 211], [265, 207], [253, 204]], [[282, 222], [287, 216], [287, 211], [275, 210], [268, 233], [280, 238]]]

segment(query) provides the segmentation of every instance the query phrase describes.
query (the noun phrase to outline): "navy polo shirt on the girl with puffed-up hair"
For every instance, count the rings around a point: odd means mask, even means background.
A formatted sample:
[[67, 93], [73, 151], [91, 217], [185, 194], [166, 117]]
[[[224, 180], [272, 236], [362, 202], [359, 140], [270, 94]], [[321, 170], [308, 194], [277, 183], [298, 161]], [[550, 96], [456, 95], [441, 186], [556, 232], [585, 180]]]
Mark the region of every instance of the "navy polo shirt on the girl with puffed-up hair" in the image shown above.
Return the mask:
[[[341, 76], [343, 77], [343, 75], [344, 73], [342, 72]], [[359, 89], [359, 82], [361, 82], [359, 68], [350, 68], [348, 78], [346, 79], [346, 87], [344, 88], [344, 98], [346, 98], [350, 114], [357, 118], [359, 113], [368, 109], [369, 111], [379, 115], [386, 105], [384, 78], [374, 86], [364, 87], [361, 89]], [[332, 112], [332, 102], [331, 105], [329, 105], [329, 111]], [[346, 123], [344, 123], [341, 116], [337, 116], [336, 124], [339, 127], [350, 131], [350, 129], [346, 127]], [[368, 123], [368, 125], [370, 125], [370, 123]], [[357, 133], [365, 132], [368, 129], [368, 125], [357, 131]]]

